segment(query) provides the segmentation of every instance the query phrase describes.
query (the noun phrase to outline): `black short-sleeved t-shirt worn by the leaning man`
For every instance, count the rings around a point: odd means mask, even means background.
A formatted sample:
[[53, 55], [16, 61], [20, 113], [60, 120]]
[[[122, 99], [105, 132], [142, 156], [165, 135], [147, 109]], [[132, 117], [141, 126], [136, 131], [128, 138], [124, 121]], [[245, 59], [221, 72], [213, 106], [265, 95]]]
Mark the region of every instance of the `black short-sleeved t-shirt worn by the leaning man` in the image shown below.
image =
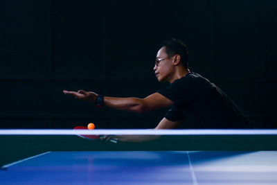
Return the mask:
[[158, 91], [174, 105], [166, 113], [179, 128], [244, 128], [249, 121], [226, 94], [197, 73], [188, 73]]

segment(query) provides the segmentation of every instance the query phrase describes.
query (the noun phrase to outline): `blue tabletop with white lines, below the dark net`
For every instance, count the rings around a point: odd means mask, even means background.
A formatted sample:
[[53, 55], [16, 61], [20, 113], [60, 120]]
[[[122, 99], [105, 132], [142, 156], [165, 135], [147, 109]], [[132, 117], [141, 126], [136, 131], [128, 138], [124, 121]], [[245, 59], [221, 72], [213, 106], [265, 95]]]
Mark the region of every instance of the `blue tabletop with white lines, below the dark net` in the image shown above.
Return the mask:
[[277, 151], [46, 152], [0, 184], [277, 184]]

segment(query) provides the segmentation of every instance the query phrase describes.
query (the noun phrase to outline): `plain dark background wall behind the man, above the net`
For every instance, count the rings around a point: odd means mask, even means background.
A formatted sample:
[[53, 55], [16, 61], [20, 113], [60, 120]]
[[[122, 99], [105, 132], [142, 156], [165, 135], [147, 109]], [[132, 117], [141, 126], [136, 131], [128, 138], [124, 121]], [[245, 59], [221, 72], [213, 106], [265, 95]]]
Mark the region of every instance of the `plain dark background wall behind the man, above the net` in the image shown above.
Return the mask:
[[276, 127], [276, 12], [275, 0], [1, 1], [0, 127], [156, 126], [167, 109], [100, 109], [62, 90], [144, 98], [167, 85], [153, 67], [171, 37], [256, 127]]

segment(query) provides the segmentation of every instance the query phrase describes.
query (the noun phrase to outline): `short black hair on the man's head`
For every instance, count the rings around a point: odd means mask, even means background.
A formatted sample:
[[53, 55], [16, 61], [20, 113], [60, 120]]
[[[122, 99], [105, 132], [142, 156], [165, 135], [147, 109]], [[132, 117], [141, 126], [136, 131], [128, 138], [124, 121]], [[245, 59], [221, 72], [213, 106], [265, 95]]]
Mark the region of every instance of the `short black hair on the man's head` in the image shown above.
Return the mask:
[[166, 47], [166, 53], [168, 57], [172, 58], [174, 55], [181, 56], [181, 63], [184, 67], [188, 68], [188, 48], [186, 44], [181, 42], [179, 39], [169, 39], [161, 44], [161, 47]]

